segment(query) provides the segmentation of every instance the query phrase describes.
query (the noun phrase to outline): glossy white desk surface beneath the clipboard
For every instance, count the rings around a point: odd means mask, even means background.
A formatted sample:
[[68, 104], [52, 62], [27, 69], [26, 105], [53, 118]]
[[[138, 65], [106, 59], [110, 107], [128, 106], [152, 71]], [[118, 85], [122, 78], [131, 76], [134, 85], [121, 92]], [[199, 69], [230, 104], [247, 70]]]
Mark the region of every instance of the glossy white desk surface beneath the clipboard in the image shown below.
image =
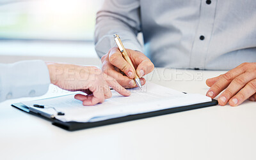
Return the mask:
[[[225, 71], [156, 68], [150, 82], [205, 94]], [[67, 94], [51, 86], [42, 97]], [[69, 132], [0, 103], [0, 159], [256, 159], [256, 103], [212, 106]]]

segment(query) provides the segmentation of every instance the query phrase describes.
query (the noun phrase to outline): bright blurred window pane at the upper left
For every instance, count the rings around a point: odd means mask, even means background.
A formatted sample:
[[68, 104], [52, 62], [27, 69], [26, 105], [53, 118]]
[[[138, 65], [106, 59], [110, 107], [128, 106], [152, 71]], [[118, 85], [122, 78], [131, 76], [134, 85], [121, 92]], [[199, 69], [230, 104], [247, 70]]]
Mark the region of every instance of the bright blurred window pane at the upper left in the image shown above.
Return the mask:
[[0, 1], [0, 38], [93, 40], [103, 0]]

